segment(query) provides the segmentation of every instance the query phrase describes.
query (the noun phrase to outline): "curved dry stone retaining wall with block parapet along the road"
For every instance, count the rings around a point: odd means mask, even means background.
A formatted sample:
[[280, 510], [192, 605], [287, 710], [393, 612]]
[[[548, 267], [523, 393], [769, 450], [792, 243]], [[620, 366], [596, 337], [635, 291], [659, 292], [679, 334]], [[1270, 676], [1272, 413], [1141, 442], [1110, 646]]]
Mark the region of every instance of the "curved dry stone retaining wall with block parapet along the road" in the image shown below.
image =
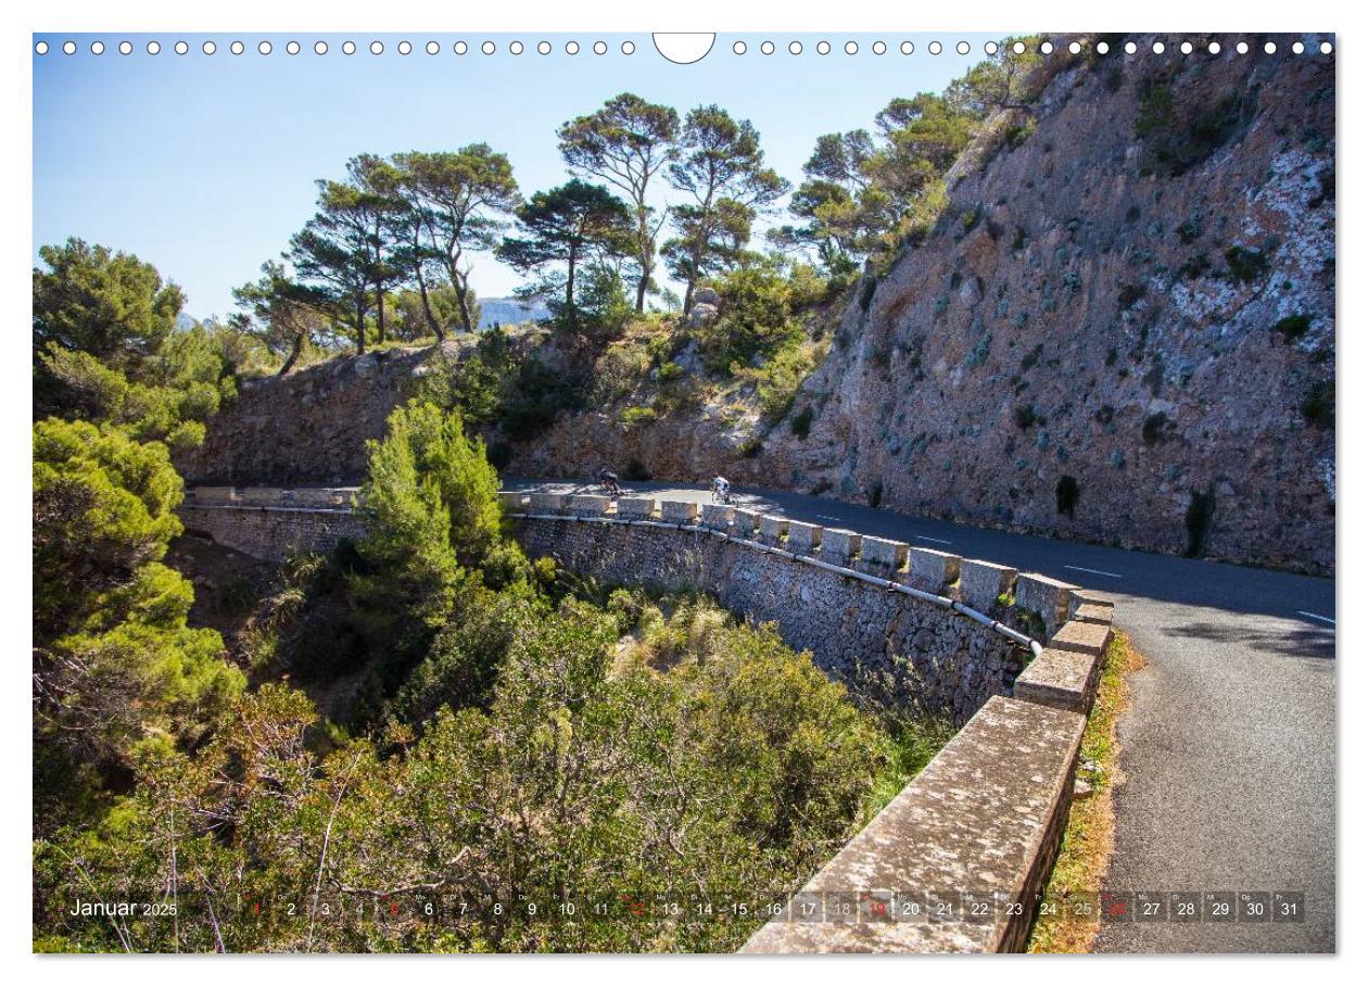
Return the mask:
[[[352, 488], [201, 487], [186, 528], [265, 559], [364, 533]], [[725, 505], [502, 492], [528, 554], [607, 583], [698, 587], [837, 678], [893, 671], [959, 733], [744, 952], [1007, 952], [1059, 851], [1112, 603], [1066, 583]], [[1029, 626], [1042, 640], [1012, 626]], [[1029, 647], [1027, 647], [1029, 644]], [[929, 919], [959, 894], [984, 919]], [[810, 920], [829, 894], [854, 919]], [[921, 918], [896, 905], [921, 903]]]

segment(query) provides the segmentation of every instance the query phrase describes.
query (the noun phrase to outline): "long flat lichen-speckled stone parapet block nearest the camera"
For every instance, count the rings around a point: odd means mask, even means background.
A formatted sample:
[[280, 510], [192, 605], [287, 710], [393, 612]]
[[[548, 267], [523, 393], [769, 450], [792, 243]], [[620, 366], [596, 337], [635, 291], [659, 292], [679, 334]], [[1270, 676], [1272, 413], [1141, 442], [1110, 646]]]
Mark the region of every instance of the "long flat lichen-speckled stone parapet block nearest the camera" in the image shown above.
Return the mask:
[[1001, 892], [1021, 914], [984, 923], [780, 918], [741, 952], [1022, 950], [1068, 816], [1083, 725], [1078, 712], [990, 697], [802, 890]]

